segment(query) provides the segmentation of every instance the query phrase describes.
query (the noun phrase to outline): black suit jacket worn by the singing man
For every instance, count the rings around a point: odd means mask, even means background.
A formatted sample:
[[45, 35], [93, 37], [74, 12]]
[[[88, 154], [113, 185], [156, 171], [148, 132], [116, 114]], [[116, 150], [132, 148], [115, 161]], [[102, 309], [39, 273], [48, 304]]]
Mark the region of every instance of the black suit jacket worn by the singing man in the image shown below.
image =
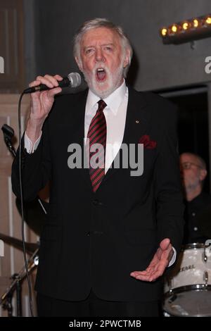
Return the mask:
[[[123, 143], [137, 145], [143, 135], [149, 135], [157, 145], [144, 149], [143, 175], [132, 177], [130, 168], [110, 168], [94, 194], [89, 170], [68, 167], [68, 146], [83, 146], [86, 100], [87, 91], [58, 96], [37, 150], [24, 153], [24, 198], [34, 199], [51, 181], [36, 289], [77, 301], [85, 299], [91, 287], [101, 299], [158, 299], [160, 280], [142, 282], [129, 274], [148, 266], [165, 237], [177, 251], [181, 245], [175, 107], [160, 96], [129, 88]], [[12, 182], [19, 195], [18, 156]]]

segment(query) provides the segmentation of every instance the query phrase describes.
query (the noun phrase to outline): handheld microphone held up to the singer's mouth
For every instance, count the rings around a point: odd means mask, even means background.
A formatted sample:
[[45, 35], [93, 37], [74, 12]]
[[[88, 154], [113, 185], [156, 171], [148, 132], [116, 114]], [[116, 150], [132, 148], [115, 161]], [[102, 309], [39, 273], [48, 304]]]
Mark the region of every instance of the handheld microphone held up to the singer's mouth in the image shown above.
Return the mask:
[[[58, 82], [58, 87], [78, 87], [81, 85], [82, 79], [79, 73], [69, 73], [68, 77], [64, 77], [63, 80]], [[44, 84], [40, 84], [38, 86], [29, 87], [23, 91], [24, 94], [39, 92], [39, 91], [46, 91], [48, 89], [54, 89], [55, 87], [47, 87]]]

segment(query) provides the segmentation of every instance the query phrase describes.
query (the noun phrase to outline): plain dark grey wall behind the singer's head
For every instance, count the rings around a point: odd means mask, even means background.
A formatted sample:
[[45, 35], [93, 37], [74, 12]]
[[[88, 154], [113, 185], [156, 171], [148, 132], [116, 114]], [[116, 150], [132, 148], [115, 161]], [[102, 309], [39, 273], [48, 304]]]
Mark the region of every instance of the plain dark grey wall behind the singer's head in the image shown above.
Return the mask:
[[34, 75], [76, 69], [72, 37], [84, 20], [106, 17], [122, 25], [134, 46], [129, 80], [136, 89], [154, 90], [211, 80], [205, 57], [211, 39], [163, 45], [163, 25], [211, 12], [210, 0], [25, 0], [27, 81]]

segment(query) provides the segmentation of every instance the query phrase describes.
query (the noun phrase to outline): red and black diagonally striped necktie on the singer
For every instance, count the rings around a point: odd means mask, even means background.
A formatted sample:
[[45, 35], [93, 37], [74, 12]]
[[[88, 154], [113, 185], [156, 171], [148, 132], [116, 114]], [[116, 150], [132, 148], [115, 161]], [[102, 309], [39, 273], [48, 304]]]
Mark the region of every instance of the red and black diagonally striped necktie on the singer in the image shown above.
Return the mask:
[[[106, 156], [106, 118], [103, 109], [106, 102], [98, 101], [98, 110], [89, 125], [87, 139], [89, 138], [89, 174], [93, 191], [96, 192], [105, 175]], [[100, 144], [95, 145], [94, 144]], [[92, 151], [90, 149], [92, 148]], [[96, 156], [95, 156], [96, 154]]]

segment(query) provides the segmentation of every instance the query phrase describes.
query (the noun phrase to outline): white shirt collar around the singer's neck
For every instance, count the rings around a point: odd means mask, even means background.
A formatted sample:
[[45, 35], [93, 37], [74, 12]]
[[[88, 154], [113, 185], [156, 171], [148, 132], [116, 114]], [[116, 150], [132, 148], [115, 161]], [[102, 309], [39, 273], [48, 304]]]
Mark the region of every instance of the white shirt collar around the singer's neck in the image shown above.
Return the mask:
[[[103, 99], [103, 101], [106, 102], [108, 108], [114, 113], [114, 115], [117, 114], [118, 108], [120, 107], [120, 104], [122, 102], [122, 99], [124, 99], [124, 95], [127, 92], [127, 87], [124, 82], [122, 82], [122, 85], [115, 89], [115, 91], [107, 96], [106, 99]], [[89, 93], [87, 96], [87, 109], [89, 112], [96, 106], [97, 102], [99, 101], [99, 96], [94, 94], [91, 89], [89, 89]]]

